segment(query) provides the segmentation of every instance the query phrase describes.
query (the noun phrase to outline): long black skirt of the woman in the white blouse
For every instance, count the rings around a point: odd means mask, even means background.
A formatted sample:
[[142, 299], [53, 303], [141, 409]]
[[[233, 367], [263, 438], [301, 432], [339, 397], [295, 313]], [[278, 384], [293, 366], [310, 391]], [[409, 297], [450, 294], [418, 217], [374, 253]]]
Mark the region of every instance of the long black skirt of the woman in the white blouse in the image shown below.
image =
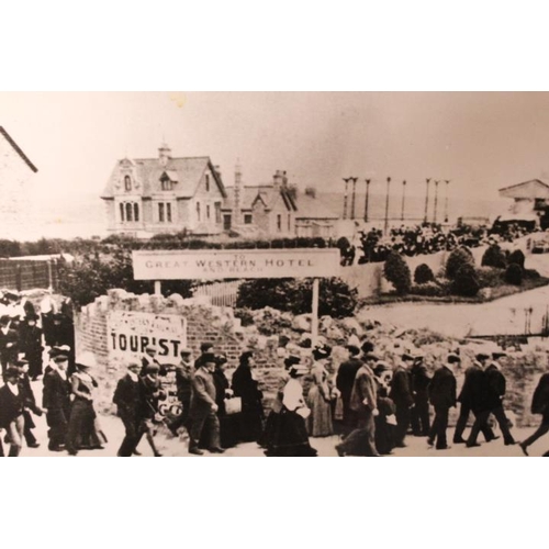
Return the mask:
[[267, 419], [265, 455], [268, 457], [314, 457], [316, 450], [309, 444], [305, 419], [283, 407], [271, 412]]

